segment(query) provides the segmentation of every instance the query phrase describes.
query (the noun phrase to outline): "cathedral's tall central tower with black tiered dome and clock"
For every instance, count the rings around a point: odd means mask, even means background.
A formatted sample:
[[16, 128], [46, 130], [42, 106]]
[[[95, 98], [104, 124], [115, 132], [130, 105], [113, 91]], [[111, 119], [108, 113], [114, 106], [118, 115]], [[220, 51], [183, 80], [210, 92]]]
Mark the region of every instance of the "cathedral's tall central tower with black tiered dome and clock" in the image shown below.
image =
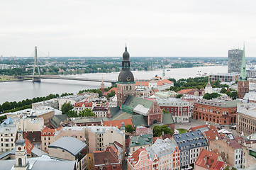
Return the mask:
[[123, 52], [122, 70], [117, 79], [117, 106], [121, 107], [128, 96], [135, 96], [135, 81], [133, 73], [130, 72], [130, 55]]

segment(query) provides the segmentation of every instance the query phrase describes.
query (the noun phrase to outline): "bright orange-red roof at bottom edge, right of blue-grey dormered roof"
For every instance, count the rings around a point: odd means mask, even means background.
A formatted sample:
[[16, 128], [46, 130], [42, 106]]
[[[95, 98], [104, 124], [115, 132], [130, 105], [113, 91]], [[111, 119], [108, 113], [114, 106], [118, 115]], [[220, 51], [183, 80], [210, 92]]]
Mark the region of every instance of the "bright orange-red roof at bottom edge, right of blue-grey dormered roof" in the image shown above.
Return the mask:
[[218, 163], [218, 157], [221, 157], [219, 154], [202, 149], [199, 157], [197, 157], [195, 165], [201, 166], [204, 169], [208, 170], [220, 170], [224, 168], [224, 163]]

